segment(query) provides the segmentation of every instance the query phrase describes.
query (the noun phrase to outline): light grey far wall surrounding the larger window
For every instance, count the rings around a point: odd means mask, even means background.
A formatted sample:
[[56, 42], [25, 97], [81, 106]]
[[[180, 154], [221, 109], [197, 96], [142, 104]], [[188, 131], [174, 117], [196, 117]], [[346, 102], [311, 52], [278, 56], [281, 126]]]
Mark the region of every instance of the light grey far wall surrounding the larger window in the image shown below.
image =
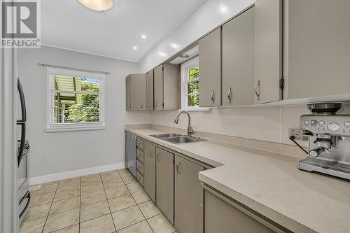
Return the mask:
[[[45, 133], [48, 77], [38, 62], [111, 72], [106, 76], [106, 129]], [[150, 122], [149, 113], [125, 112], [125, 77], [137, 72], [136, 63], [42, 47], [18, 50], [18, 69], [27, 103], [29, 177], [123, 163], [125, 123]]]

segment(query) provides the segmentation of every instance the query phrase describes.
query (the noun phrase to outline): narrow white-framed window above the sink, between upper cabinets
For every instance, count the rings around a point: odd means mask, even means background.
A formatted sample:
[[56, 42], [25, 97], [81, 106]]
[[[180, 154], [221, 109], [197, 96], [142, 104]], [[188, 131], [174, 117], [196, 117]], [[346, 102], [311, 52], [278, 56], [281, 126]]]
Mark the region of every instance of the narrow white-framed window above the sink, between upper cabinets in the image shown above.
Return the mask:
[[183, 109], [196, 109], [200, 105], [200, 67], [195, 57], [181, 65], [181, 106]]

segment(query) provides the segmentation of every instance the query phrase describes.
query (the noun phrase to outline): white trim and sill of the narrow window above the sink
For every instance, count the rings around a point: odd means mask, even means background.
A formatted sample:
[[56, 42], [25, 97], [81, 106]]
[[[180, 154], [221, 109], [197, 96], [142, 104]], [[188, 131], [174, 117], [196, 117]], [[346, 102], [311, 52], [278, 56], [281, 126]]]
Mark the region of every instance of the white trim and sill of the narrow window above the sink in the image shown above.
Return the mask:
[[211, 108], [201, 108], [200, 106], [188, 106], [188, 83], [193, 83], [199, 78], [189, 80], [189, 71], [195, 66], [199, 66], [200, 59], [195, 57], [190, 61], [181, 64], [181, 110], [180, 111], [210, 111]]

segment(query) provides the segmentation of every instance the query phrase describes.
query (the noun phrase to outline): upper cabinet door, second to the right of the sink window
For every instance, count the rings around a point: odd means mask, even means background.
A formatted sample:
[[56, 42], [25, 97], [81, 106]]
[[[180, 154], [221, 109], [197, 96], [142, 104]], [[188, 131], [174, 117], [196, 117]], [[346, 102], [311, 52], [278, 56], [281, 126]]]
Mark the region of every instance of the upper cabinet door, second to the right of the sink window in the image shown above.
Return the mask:
[[223, 25], [223, 106], [254, 104], [254, 8]]

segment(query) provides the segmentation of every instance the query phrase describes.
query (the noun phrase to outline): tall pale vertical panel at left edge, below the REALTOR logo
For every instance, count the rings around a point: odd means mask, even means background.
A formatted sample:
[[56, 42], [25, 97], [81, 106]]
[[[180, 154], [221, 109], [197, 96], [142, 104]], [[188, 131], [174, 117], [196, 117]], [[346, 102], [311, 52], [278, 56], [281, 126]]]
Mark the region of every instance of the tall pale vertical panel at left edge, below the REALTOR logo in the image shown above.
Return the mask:
[[0, 73], [0, 233], [18, 233], [18, 66], [15, 48], [0, 48]]

